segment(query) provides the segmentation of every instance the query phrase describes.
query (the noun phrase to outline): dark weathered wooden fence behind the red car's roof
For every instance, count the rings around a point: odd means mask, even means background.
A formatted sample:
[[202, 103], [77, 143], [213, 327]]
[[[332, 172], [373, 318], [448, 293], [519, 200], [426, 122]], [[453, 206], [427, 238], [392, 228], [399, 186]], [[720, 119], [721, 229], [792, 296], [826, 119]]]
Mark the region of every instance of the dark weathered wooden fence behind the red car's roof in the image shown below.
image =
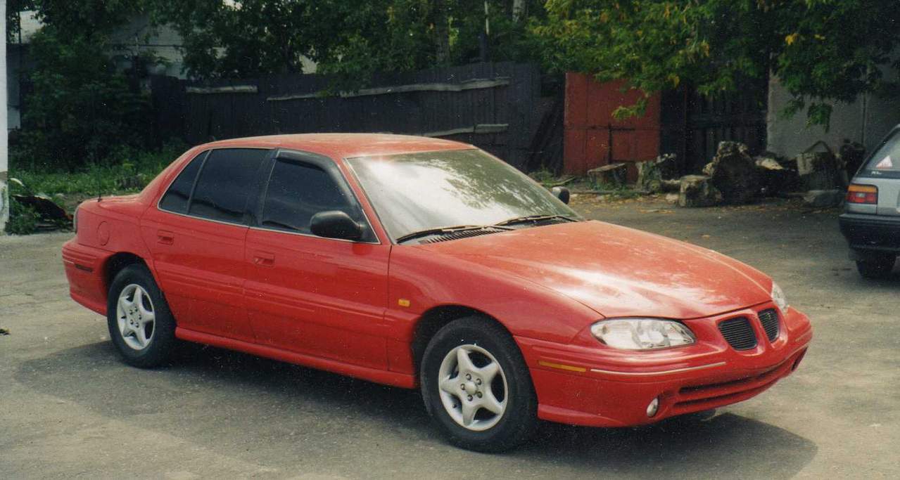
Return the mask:
[[157, 128], [191, 144], [309, 132], [391, 132], [471, 143], [522, 170], [555, 164], [561, 136], [535, 65], [482, 63], [380, 74], [365, 89], [324, 95], [329, 78], [280, 75], [198, 84], [151, 79]]

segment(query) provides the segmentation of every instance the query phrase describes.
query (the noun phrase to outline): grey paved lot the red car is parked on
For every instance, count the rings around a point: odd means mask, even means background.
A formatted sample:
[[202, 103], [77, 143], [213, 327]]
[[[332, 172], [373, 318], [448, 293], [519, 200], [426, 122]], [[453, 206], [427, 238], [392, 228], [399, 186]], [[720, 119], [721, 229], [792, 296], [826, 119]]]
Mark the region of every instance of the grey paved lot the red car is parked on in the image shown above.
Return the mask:
[[769, 272], [813, 318], [801, 368], [715, 415], [547, 424], [482, 455], [446, 445], [415, 392], [199, 347], [129, 368], [104, 319], [67, 296], [71, 234], [0, 237], [0, 477], [900, 477], [900, 279], [860, 280], [833, 213], [579, 209]]

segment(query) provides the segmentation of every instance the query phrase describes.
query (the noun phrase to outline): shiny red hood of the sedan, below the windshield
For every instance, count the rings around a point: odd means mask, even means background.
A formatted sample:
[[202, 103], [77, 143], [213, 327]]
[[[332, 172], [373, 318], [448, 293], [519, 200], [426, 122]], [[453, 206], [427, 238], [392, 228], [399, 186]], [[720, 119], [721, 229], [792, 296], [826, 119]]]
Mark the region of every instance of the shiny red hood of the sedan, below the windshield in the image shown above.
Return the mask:
[[418, 248], [553, 289], [607, 317], [689, 319], [770, 299], [771, 280], [742, 262], [599, 221], [523, 228]]

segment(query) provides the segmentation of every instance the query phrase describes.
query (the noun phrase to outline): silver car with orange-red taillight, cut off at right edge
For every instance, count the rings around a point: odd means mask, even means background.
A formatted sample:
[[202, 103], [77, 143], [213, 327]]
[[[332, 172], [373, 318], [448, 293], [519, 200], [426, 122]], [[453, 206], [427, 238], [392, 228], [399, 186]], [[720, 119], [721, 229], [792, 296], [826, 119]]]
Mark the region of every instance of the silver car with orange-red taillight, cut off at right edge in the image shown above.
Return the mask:
[[840, 222], [860, 275], [889, 277], [900, 253], [900, 125], [853, 177]]

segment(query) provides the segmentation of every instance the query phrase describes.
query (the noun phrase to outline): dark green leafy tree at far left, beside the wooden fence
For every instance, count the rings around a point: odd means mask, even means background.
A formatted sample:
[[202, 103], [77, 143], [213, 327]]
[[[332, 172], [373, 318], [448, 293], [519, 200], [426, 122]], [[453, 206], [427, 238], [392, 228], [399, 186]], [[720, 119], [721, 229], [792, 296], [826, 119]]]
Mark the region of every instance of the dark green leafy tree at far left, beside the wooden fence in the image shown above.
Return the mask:
[[28, 3], [43, 26], [31, 38], [34, 65], [26, 73], [31, 91], [24, 98], [17, 156], [31, 164], [74, 168], [101, 162], [123, 145], [147, 145], [148, 98], [116, 68], [108, 42], [112, 29], [144, 4], [143, 0]]

